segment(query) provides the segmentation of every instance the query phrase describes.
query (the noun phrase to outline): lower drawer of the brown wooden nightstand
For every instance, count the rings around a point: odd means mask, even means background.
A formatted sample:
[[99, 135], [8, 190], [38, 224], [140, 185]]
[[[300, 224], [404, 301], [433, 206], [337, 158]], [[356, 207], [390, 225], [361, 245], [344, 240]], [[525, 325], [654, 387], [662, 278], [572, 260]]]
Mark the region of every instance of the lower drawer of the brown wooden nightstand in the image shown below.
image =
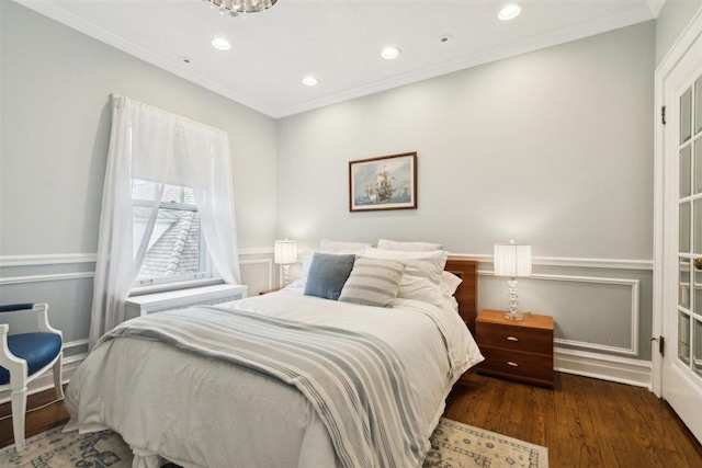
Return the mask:
[[499, 377], [553, 386], [553, 355], [532, 354], [482, 346], [485, 361], [479, 370]]

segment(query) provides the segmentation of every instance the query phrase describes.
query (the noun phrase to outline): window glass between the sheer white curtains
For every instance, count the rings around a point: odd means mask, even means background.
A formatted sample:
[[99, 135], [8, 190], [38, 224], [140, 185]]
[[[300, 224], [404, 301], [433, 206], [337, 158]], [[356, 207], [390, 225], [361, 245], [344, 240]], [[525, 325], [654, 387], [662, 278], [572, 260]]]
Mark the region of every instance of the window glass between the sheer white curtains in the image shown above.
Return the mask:
[[[162, 189], [162, 193], [161, 193]], [[135, 287], [212, 277], [212, 264], [192, 189], [132, 179], [133, 255], [147, 231], [158, 199], [154, 230]]]

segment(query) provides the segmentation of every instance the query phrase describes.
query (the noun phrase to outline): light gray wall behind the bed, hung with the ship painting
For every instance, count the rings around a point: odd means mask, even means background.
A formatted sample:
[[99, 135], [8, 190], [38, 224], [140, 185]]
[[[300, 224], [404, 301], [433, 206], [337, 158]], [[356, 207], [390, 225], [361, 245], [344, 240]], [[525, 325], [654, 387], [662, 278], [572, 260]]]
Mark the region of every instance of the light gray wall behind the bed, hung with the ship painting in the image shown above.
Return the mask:
[[[530, 242], [536, 273], [568, 277], [520, 283], [563, 346], [647, 361], [654, 50], [647, 22], [283, 118], [279, 237], [440, 242], [485, 261], [480, 306], [499, 308], [492, 243]], [[349, 161], [406, 151], [418, 152], [419, 208], [349, 213]], [[638, 282], [637, 297], [591, 281], [619, 276]]]

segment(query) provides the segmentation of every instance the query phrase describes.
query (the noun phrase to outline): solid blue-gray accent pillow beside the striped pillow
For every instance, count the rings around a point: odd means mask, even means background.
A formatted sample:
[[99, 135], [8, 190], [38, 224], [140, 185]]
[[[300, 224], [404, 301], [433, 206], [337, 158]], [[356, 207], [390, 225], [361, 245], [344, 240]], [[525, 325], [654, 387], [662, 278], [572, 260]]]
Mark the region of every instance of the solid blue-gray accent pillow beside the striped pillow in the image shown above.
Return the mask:
[[305, 296], [338, 300], [353, 270], [353, 262], [354, 254], [315, 253], [307, 274]]

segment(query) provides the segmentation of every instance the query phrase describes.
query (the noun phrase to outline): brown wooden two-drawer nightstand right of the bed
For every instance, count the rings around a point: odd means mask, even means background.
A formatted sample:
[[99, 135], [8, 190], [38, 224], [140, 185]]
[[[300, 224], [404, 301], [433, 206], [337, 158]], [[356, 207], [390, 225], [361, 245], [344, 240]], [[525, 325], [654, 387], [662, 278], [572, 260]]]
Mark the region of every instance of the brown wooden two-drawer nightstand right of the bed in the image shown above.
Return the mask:
[[475, 334], [485, 361], [480, 374], [553, 388], [553, 318], [525, 313], [509, 320], [505, 312], [483, 310]]

